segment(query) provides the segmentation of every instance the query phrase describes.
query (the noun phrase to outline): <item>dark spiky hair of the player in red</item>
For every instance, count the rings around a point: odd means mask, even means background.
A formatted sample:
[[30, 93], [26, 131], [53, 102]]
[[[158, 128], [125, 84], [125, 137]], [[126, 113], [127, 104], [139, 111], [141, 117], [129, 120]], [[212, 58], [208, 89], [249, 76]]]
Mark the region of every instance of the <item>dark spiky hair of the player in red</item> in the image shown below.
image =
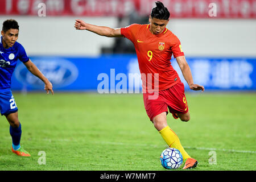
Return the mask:
[[160, 1], [155, 2], [156, 7], [153, 7], [151, 10], [151, 18], [168, 20], [170, 17], [170, 13], [166, 7], [164, 7], [163, 3]]

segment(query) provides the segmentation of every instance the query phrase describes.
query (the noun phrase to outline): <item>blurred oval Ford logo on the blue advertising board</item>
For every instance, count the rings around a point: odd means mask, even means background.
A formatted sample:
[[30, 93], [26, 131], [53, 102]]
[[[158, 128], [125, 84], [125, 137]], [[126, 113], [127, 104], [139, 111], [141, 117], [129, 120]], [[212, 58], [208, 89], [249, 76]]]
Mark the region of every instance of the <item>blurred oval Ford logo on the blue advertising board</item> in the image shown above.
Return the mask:
[[[72, 84], [79, 74], [76, 65], [65, 59], [34, 59], [32, 62], [52, 82], [53, 88], [63, 88]], [[14, 74], [16, 79], [24, 85], [35, 88], [42, 88], [44, 85], [38, 77], [28, 71], [23, 63], [16, 67]]]

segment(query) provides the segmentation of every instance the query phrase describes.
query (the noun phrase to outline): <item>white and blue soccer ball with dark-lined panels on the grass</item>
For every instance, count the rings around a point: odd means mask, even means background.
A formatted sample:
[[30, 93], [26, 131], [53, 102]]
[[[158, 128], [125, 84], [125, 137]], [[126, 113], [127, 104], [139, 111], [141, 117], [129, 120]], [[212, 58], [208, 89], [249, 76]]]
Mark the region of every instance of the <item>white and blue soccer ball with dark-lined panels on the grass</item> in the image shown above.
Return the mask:
[[166, 169], [177, 169], [183, 162], [183, 157], [176, 148], [166, 148], [160, 155], [160, 162]]

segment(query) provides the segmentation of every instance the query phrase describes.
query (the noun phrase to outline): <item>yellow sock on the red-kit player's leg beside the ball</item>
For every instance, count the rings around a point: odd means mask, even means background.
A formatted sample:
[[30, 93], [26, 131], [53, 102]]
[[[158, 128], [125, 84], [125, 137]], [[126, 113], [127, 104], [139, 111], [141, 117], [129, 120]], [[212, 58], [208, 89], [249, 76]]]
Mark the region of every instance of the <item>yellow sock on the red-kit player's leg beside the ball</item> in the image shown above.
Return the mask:
[[169, 126], [164, 127], [164, 129], [160, 130], [159, 133], [161, 134], [164, 141], [166, 141], [169, 147], [177, 148], [177, 150], [181, 152], [183, 160], [191, 158], [191, 156], [189, 156], [188, 153], [184, 150], [183, 146], [181, 146], [180, 139], [177, 137], [174, 131], [170, 129]]

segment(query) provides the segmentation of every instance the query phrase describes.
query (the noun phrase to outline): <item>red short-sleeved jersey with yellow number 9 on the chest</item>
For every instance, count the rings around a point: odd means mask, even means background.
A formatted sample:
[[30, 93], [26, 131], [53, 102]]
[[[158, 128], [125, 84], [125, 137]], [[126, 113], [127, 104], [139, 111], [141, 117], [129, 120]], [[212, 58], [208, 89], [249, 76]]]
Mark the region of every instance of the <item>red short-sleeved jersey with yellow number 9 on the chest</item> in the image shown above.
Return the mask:
[[[121, 34], [134, 44], [143, 89], [165, 90], [180, 81], [179, 75], [171, 65], [172, 55], [176, 58], [184, 56], [184, 53], [180, 40], [170, 30], [165, 28], [161, 34], [155, 35], [149, 28], [150, 24], [131, 24], [121, 28]], [[152, 81], [148, 81], [148, 75], [152, 76]], [[158, 85], [155, 84], [156, 80]]]

